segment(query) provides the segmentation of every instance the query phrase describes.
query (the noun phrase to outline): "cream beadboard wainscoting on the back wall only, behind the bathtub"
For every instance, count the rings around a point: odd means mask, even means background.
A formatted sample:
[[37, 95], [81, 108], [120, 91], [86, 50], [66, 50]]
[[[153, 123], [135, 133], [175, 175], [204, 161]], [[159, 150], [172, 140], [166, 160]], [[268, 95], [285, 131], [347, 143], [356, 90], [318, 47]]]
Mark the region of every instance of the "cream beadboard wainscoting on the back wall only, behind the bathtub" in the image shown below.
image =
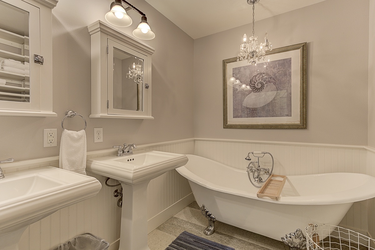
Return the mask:
[[[275, 160], [273, 170], [275, 174], [368, 173], [368, 150], [363, 146], [195, 139], [195, 155], [242, 170], [246, 170], [249, 162], [245, 157], [252, 151], [270, 152]], [[254, 157], [251, 155], [251, 158]], [[373, 162], [375, 163], [375, 156]], [[367, 203], [368, 201], [355, 202], [342, 219], [340, 226], [366, 234]]]

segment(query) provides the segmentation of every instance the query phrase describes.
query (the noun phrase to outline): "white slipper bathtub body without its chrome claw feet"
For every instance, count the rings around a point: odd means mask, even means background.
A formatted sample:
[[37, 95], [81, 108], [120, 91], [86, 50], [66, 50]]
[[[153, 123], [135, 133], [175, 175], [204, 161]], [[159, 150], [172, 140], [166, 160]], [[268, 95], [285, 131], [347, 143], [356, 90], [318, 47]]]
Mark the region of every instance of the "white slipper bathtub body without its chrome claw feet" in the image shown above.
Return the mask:
[[[375, 178], [364, 174], [330, 173], [288, 176], [278, 201], [257, 198], [259, 189], [246, 171], [195, 155], [178, 173], [189, 180], [199, 206], [216, 219], [281, 240], [309, 223], [338, 225], [353, 202], [375, 196]], [[277, 168], [277, 166], [275, 166]]]

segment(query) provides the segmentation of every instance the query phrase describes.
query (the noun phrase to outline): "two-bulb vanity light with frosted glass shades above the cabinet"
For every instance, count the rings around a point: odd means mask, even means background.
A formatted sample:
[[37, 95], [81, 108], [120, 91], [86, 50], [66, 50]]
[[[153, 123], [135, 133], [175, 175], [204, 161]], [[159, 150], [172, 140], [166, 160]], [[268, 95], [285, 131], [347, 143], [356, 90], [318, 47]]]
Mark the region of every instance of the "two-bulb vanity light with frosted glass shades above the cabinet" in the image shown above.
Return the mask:
[[[125, 3], [128, 7], [124, 9], [122, 3]], [[155, 34], [151, 31], [150, 25], [148, 25], [147, 17], [145, 13], [141, 12], [139, 9], [134, 7], [132, 4], [125, 0], [115, 0], [111, 3], [111, 10], [105, 14], [105, 19], [112, 25], [118, 27], [128, 27], [132, 25], [133, 21], [129, 15], [127, 15], [126, 10], [135, 10], [141, 17], [141, 22], [138, 27], [133, 31], [133, 35], [136, 38], [142, 40], [151, 40], [155, 37]]]

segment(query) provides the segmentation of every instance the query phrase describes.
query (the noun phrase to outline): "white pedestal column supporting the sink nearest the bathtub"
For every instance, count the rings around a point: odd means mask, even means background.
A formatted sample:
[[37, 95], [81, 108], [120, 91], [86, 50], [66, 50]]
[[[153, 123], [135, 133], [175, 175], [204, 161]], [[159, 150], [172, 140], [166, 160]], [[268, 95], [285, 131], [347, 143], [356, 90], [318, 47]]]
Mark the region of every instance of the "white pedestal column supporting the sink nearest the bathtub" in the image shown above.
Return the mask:
[[120, 182], [123, 189], [120, 248], [118, 250], [150, 250], [147, 245], [147, 185]]

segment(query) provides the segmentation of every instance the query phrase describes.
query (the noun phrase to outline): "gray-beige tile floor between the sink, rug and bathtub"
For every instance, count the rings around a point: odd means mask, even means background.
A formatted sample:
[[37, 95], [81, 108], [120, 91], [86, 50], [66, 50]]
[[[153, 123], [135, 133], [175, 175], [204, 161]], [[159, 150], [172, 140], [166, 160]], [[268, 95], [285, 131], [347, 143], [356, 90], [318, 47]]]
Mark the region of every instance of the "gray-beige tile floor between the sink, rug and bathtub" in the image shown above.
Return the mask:
[[217, 243], [233, 247], [236, 250], [288, 250], [289, 247], [263, 235], [255, 234], [222, 222], [215, 222], [215, 232], [206, 236], [203, 230], [208, 225], [194, 201], [148, 234], [148, 247], [151, 250], [164, 250], [183, 231]]

